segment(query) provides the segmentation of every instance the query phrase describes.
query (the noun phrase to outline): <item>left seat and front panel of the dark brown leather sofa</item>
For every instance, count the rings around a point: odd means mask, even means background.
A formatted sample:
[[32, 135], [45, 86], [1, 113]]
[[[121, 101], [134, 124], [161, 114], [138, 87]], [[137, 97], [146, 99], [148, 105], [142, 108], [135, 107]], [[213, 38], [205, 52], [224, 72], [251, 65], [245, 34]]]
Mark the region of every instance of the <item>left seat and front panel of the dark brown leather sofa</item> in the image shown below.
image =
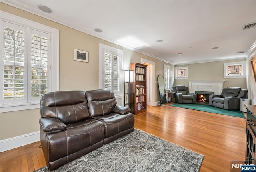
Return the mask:
[[104, 124], [101, 121], [95, 121], [88, 125], [51, 133], [47, 137], [49, 162], [53, 162], [102, 141]]

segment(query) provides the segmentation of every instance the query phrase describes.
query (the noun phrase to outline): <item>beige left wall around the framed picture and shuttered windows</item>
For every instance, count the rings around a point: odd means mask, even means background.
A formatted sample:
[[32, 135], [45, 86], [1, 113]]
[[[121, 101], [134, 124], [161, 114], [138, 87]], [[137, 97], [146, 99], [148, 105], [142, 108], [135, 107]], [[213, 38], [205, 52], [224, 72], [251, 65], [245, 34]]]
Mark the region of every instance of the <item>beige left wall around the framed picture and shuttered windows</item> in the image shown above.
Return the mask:
[[[91, 90], [98, 89], [99, 68], [99, 43], [109, 45], [124, 51], [124, 69], [129, 69], [130, 63], [140, 63], [141, 58], [153, 61], [156, 64], [155, 81], [158, 74], [163, 75], [164, 62], [142, 55], [116, 44], [101, 40], [62, 24], [19, 10], [0, 2], [0, 10], [26, 18], [52, 28], [60, 30], [60, 91], [62, 90]], [[74, 61], [74, 49], [89, 52], [89, 63]], [[168, 63], [165, 63], [168, 64]], [[171, 65], [174, 68], [173, 65]], [[157, 85], [157, 84], [156, 84]], [[157, 87], [155, 87], [157, 90]], [[158, 96], [155, 92], [155, 101]], [[39, 131], [38, 120], [40, 109], [0, 113], [0, 140]]]

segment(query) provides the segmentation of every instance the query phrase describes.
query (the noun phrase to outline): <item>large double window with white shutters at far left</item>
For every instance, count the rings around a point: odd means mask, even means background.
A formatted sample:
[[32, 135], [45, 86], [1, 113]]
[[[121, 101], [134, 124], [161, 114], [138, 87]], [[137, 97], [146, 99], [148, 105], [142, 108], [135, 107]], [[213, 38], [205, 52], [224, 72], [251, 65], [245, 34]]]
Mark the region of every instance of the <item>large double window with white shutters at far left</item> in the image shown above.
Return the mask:
[[[52, 42], [53, 33], [30, 28], [32, 21], [24, 20], [26, 26], [9, 21], [0, 20], [0, 112], [38, 108], [42, 94], [58, 91], [58, 81], [53, 81], [58, 73], [51, 71], [51, 66], [58, 69], [58, 53], [51, 50], [58, 36]], [[51, 59], [51, 54], [56, 54], [56, 59]]]

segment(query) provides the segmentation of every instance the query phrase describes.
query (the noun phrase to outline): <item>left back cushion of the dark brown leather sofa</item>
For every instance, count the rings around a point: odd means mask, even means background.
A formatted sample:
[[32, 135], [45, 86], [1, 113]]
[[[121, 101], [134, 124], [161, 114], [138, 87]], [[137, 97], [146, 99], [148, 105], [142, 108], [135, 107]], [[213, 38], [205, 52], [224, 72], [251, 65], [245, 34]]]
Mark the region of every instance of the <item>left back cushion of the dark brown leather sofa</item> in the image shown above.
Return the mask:
[[90, 114], [84, 91], [57, 91], [41, 97], [41, 117], [52, 117], [63, 123], [74, 123]]

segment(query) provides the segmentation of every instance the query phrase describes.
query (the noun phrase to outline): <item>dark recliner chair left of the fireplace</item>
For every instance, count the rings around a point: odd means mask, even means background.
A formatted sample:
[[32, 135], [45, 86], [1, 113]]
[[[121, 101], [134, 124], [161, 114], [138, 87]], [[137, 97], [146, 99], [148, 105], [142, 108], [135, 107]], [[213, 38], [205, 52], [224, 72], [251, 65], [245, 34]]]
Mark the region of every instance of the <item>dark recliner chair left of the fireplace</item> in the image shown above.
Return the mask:
[[196, 94], [189, 93], [188, 87], [185, 85], [176, 85], [173, 91], [176, 103], [196, 103]]

